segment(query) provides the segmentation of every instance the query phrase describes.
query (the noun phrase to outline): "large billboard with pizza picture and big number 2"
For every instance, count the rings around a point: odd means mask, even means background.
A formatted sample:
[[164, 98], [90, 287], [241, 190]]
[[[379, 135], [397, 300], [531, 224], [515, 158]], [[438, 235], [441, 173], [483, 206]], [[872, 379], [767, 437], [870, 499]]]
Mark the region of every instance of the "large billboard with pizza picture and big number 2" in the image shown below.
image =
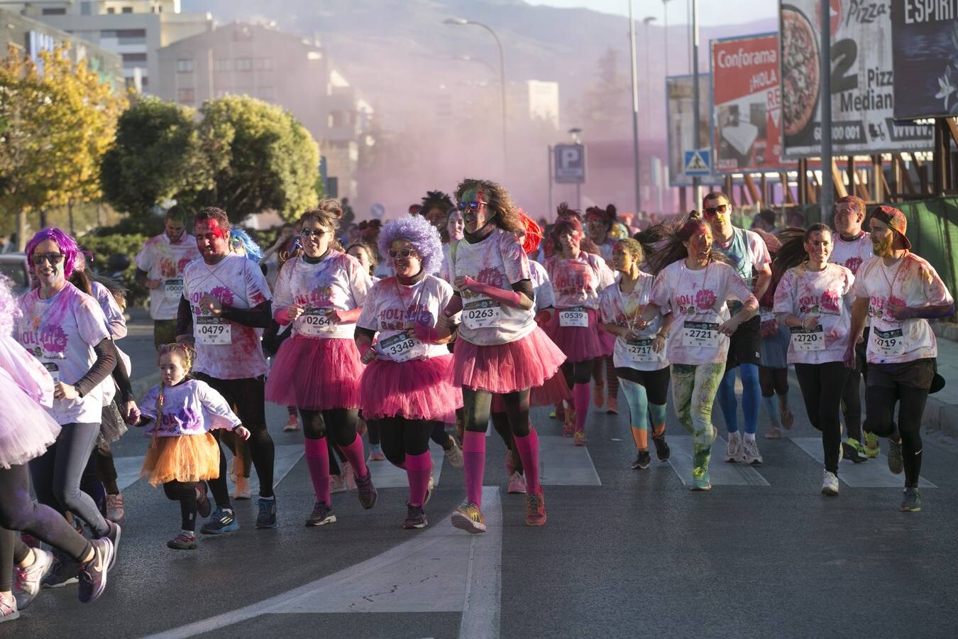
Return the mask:
[[[924, 150], [932, 127], [896, 122], [891, 13], [885, 2], [830, 0], [832, 144], [838, 154]], [[821, 4], [779, 6], [787, 157], [821, 154]]]

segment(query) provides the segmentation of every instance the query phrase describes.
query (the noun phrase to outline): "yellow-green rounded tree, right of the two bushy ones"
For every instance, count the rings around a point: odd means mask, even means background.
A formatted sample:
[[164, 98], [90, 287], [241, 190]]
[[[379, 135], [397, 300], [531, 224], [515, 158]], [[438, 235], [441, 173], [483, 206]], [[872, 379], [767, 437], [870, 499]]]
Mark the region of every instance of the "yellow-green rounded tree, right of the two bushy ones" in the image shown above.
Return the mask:
[[199, 110], [213, 169], [207, 201], [236, 221], [269, 209], [290, 219], [316, 206], [319, 148], [292, 115], [246, 96], [207, 101]]

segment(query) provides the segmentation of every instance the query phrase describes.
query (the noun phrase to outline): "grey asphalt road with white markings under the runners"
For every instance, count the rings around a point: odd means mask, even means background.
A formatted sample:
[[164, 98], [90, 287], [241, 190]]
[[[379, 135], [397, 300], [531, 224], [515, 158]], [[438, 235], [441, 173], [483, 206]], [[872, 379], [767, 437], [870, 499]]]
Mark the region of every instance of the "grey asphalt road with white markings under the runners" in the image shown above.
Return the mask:
[[[148, 325], [134, 322], [121, 342], [134, 377], [151, 372], [149, 339]], [[76, 586], [45, 590], [0, 637], [954, 637], [958, 445], [925, 438], [922, 476], [935, 488], [923, 490], [922, 513], [898, 512], [901, 476], [883, 458], [842, 462], [841, 494], [826, 498], [794, 383], [791, 401], [794, 439], [760, 441], [757, 468], [715, 454], [708, 493], [689, 491], [688, 473], [675, 469], [685, 468], [689, 441], [671, 414], [673, 464], [635, 471], [627, 418], [593, 410], [587, 449], [543, 438], [549, 522], [536, 529], [524, 525], [523, 497], [505, 492], [493, 433], [483, 536], [449, 525], [465, 488], [447, 462], [425, 530], [401, 529], [401, 486], [380, 489], [372, 511], [354, 492], [335, 494], [339, 520], [306, 528], [302, 434], [284, 433], [285, 410], [270, 405], [278, 474], [286, 471], [278, 530], [255, 530], [255, 505], [238, 502], [238, 532], [169, 550], [178, 506], [134, 482], [103, 598], [80, 605]], [[560, 435], [543, 409], [533, 422]], [[133, 468], [145, 448], [131, 432], [115, 456]], [[386, 466], [373, 464], [397, 484]]]

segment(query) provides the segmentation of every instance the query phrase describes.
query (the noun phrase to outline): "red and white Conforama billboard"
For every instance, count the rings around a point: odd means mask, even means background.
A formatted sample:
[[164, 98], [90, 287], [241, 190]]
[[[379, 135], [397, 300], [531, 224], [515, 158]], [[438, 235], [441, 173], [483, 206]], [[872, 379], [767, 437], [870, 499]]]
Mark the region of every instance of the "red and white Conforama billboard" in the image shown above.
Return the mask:
[[782, 159], [778, 34], [712, 40], [715, 172], [794, 169]]

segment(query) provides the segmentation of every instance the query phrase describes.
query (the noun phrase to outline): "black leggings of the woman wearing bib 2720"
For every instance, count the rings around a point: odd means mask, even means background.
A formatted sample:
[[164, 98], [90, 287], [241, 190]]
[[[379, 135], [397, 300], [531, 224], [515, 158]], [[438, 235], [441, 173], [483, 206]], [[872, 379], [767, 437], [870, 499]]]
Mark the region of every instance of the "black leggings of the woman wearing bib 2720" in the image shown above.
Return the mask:
[[841, 422], [838, 412], [848, 369], [844, 362], [795, 364], [795, 376], [805, 399], [809, 421], [822, 433], [825, 469], [838, 473], [841, 460]]

